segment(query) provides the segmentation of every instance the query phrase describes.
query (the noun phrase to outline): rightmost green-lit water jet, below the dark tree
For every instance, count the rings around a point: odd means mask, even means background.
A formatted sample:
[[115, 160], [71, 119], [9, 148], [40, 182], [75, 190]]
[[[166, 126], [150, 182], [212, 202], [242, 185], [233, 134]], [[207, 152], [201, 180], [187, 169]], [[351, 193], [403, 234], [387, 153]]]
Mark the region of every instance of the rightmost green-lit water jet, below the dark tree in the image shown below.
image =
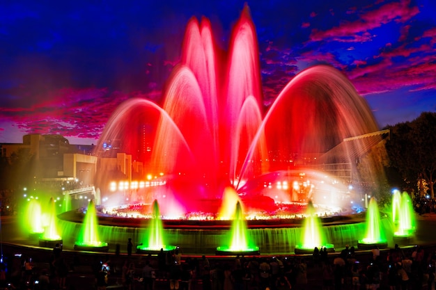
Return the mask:
[[[412, 200], [410, 200], [410, 195], [407, 192], [400, 194], [399, 191], [395, 191], [393, 199], [398, 199], [398, 195], [400, 195], [400, 207], [398, 207], [398, 211], [396, 212], [398, 218], [394, 219], [396, 225], [394, 243], [398, 245], [406, 245], [412, 242], [416, 230], [416, 221], [414, 219], [413, 204]], [[394, 204], [397, 204], [398, 202], [394, 203], [393, 201], [392, 203], [394, 211]], [[392, 215], [394, 216], [394, 213]]]

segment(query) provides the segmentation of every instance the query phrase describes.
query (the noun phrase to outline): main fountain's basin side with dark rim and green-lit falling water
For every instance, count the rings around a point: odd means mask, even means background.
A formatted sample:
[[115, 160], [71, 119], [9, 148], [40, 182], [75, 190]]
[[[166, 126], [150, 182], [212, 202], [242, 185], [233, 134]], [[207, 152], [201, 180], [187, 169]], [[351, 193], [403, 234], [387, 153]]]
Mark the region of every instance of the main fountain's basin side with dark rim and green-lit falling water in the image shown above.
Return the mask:
[[[73, 245], [77, 241], [77, 232], [81, 228], [80, 221], [83, 214], [74, 211], [59, 215], [59, 224], [63, 245]], [[123, 245], [127, 239], [138, 245], [148, 245], [143, 239], [146, 234], [144, 220], [136, 218], [116, 218], [99, 216], [98, 232], [100, 239], [109, 245]], [[329, 243], [336, 248], [345, 245], [357, 245], [360, 233], [364, 232], [364, 218], [362, 215], [335, 216], [322, 218], [322, 227]], [[223, 245], [228, 237], [231, 222], [228, 220], [163, 220], [166, 242], [162, 244], [178, 245], [184, 254], [215, 255], [217, 246]], [[286, 255], [294, 252], [295, 245], [300, 242], [302, 219], [281, 220], [248, 220], [249, 236], [254, 245], [262, 249], [262, 255]], [[386, 223], [388, 226], [388, 223]], [[384, 231], [389, 232], [389, 227]], [[66, 237], [66, 238], [65, 238]], [[66, 240], [65, 240], [66, 239]], [[157, 247], [153, 247], [157, 248]], [[110, 249], [109, 249], [110, 250]], [[114, 249], [115, 250], [115, 247]], [[231, 254], [233, 255], [233, 254]]]

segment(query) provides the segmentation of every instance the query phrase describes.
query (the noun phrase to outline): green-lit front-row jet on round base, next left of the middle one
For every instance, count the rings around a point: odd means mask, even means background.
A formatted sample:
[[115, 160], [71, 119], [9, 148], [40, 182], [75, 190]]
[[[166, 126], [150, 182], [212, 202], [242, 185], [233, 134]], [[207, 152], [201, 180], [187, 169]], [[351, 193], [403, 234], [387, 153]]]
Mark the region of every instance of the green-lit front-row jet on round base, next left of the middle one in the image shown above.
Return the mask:
[[137, 246], [137, 252], [148, 254], [157, 254], [161, 249], [166, 251], [176, 250], [175, 245], [166, 245], [164, 243], [164, 227], [160, 218], [159, 204], [157, 200], [153, 202], [152, 217], [149, 220], [146, 240]]

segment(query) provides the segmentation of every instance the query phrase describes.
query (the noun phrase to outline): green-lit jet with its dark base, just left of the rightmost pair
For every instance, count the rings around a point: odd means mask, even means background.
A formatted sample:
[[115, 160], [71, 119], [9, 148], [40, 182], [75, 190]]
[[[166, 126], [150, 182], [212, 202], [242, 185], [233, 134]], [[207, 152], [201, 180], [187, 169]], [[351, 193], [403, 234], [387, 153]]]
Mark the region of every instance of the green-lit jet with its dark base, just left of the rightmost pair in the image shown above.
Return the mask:
[[357, 248], [365, 250], [375, 247], [387, 248], [387, 240], [380, 223], [377, 201], [375, 198], [371, 198], [366, 211], [366, 233], [364, 239], [357, 243]]

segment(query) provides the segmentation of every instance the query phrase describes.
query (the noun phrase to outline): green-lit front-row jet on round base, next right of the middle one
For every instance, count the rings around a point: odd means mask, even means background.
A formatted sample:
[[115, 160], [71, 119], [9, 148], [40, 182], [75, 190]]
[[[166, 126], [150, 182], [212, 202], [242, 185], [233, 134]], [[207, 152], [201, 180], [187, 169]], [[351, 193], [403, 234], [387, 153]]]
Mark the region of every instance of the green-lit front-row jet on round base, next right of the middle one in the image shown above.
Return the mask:
[[317, 216], [312, 202], [307, 204], [306, 218], [304, 218], [302, 235], [299, 244], [295, 245], [295, 254], [309, 254], [313, 249], [327, 248], [327, 252], [334, 252], [334, 245], [325, 243], [320, 218]]

